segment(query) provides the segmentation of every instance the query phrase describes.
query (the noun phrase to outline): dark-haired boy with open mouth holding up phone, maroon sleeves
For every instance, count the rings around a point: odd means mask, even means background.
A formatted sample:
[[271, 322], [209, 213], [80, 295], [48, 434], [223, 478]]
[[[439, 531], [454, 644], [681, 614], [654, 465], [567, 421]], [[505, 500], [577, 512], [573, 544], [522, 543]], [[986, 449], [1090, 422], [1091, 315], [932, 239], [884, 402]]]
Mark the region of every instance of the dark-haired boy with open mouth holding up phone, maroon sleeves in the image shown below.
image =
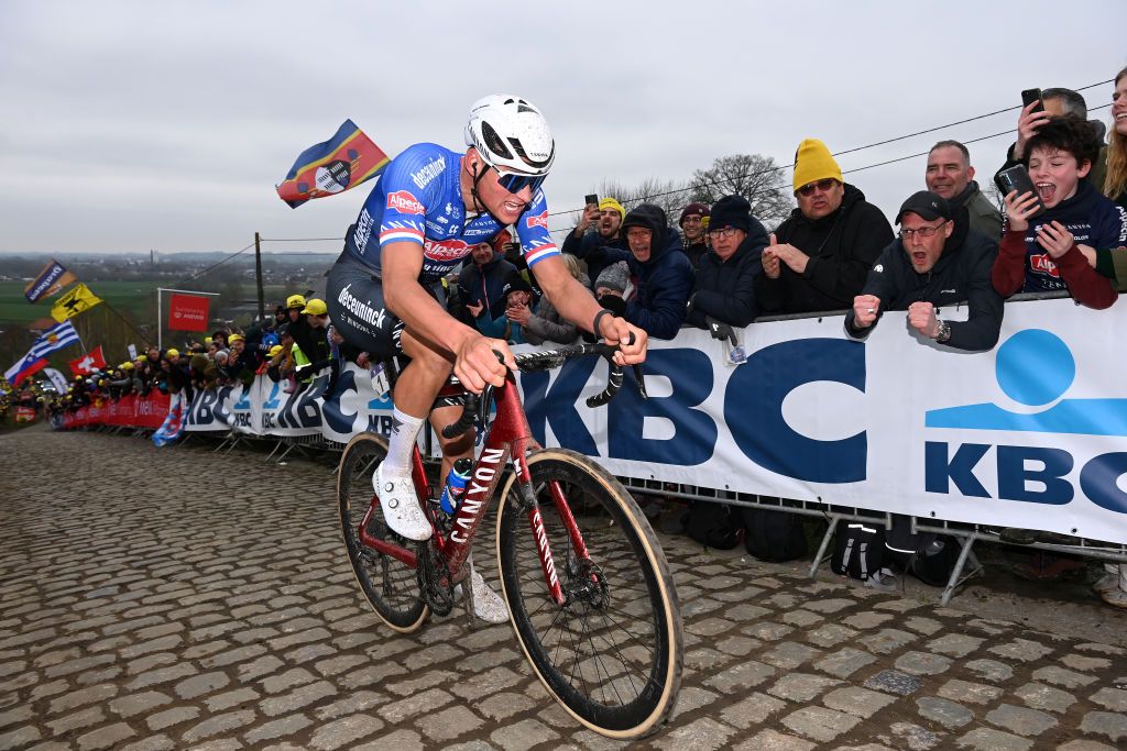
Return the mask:
[[994, 288], [1005, 296], [1067, 289], [1083, 305], [1109, 307], [1116, 302], [1115, 287], [1092, 268], [1086, 253], [1095, 261], [1092, 249], [1122, 244], [1127, 222], [1122, 209], [1084, 179], [1099, 141], [1088, 123], [1064, 115], [1041, 123], [1023, 145], [1046, 211], [1032, 216], [1032, 194], [1005, 197], [1006, 230], [994, 265]]

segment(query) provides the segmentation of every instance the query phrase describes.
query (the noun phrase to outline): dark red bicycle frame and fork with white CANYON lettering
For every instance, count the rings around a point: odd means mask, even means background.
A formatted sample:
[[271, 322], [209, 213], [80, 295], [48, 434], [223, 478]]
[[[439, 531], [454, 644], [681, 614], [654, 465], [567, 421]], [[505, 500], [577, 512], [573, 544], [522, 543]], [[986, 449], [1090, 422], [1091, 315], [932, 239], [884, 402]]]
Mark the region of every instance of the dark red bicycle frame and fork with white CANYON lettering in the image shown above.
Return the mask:
[[[438, 396], [453, 397], [465, 395], [465, 388], [460, 384], [449, 384], [443, 387]], [[438, 535], [435, 527], [434, 543], [450, 569], [453, 581], [464, 579], [465, 572], [462, 566], [470, 555], [473, 538], [477, 535], [481, 519], [488, 508], [494, 492], [504, 475], [505, 468], [512, 461], [516, 472], [515, 483], [518, 492], [527, 504], [529, 526], [532, 529], [533, 539], [536, 542], [536, 553], [540, 556], [540, 566], [544, 574], [544, 582], [548, 584], [549, 593], [557, 605], [562, 605], [566, 600], [564, 589], [560, 585], [556, 573], [556, 561], [552, 557], [551, 545], [548, 534], [544, 530], [544, 522], [540, 516], [540, 504], [532, 492], [532, 474], [529, 465], [524, 461], [529, 449], [539, 448], [539, 444], [532, 437], [532, 429], [529, 427], [529, 419], [524, 413], [524, 405], [516, 388], [516, 379], [509, 372], [505, 377], [505, 385], [494, 392], [494, 403], [497, 406], [497, 414], [486, 437], [486, 442], [481, 448], [481, 455], [473, 464], [470, 479], [465, 484], [465, 492], [462, 501], [451, 521], [451, 529], [446, 535]], [[432, 511], [427, 508], [424, 499], [429, 498], [429, 486], [426, 481], [426, 471], [423, 466], [423, 455], [415, 448], [411, 457], [411, 476], [415, 481], [415, 489], [420, 502], [424, 506], [431, 522], [434, 525]], [[440, 479], [445, 482], [445, 477]], [[576, 555], [587, 558], [587, 546], [583, 542], [583, 535], [575, 522], [571, 509], [559, 483], [550, 483], [549, 491], [556, 502], [560, 519], [568, 530], [568, 536]], [[367, 511], [360, 524], [360, 542], [362, 545], [390, 555], [398, 561], [415, 567], [418, 558], [414, 551], [397, 545], [396, 543], [379, 539], [367, 533], [367, 525], [380, 503], [379, 497], [374, 493], [369, 503]]]

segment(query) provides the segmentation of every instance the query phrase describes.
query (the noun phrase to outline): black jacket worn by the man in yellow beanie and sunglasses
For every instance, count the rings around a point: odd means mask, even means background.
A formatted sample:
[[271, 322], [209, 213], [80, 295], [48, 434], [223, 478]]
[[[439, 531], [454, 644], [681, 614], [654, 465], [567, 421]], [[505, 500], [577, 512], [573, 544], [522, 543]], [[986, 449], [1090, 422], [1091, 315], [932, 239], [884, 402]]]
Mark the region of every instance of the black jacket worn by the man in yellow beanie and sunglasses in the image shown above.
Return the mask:
[[782, 274], [755, 279], [755, 295], [764, 314], [842, 311], [864, 286], [880, 250], [893, 240], [893, 227], [864, 194], [845, 184], [837, 211], [819, 220], [796, 208], [774, 232], [780, 244], [795, 245], [810, 257], [806, 270], [795, 274], [783, 263]]

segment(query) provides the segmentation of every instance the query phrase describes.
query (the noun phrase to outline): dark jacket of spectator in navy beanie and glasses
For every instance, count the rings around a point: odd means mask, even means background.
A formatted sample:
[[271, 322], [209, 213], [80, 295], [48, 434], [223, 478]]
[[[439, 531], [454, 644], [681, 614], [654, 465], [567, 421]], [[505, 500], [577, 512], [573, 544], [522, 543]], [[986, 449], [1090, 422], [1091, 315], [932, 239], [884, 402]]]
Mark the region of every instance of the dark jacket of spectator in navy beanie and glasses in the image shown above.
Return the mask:
[[767, 244], [767, 231], [754, 217], [751, 232], [728, 260], [715, 250], [701, 256], [693, 285], [687, 321], [704, 329], [707, 318], [734, 327], [745, 327], [757, 314], [755, 277], [763, 270], [761, 257]]

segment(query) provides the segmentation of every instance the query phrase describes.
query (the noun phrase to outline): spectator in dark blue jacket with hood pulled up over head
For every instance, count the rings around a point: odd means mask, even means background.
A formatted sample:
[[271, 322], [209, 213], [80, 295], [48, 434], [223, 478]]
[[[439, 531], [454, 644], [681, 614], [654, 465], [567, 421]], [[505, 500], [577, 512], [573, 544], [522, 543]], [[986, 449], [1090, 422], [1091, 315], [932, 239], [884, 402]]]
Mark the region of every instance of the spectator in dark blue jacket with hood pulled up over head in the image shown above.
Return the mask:
[[[635, 285], [627, 299], [627, 321], [650, 337], [673, 339], [685, 321], [693, 286], [693, 267], [681, 250], [681, 235], [654, 204], [641, 204], [627, 214], [622, 233], [630, 247], [625, 260]], [[621, 251], [609, 252], [607, 259], [621, 256]]]

